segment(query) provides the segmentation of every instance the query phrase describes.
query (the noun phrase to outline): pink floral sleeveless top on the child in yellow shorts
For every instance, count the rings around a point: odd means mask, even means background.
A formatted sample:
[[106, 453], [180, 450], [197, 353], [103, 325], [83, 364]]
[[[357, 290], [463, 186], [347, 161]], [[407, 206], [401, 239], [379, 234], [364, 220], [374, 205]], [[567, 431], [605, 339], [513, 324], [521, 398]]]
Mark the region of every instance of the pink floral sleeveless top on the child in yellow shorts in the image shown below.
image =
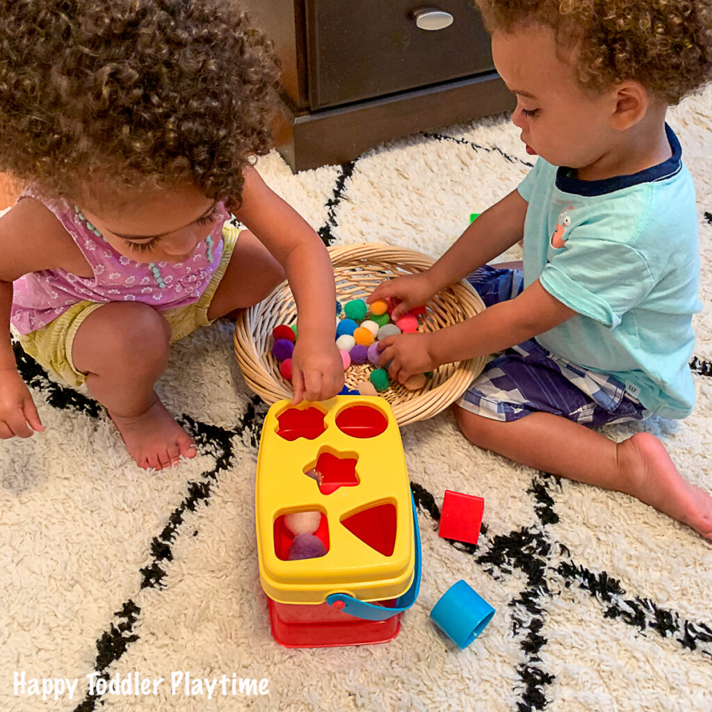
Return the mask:
[[65, 200], [48, 200], [23, 191], [20, 199], [40, 201], [61, 222], [88, 261], [93, 277], [63, 269], [26, 274], [13, 283], [11, 323], [21, 334], [39, 329], [73, 304], [139, 301], [158, 309], [184, 306], [198, 300], [222, 256], [222, 227], [230, 217], [224, 204], [211, 234], [184, 262], [136, 262], [117, 253], [83, 214]]

